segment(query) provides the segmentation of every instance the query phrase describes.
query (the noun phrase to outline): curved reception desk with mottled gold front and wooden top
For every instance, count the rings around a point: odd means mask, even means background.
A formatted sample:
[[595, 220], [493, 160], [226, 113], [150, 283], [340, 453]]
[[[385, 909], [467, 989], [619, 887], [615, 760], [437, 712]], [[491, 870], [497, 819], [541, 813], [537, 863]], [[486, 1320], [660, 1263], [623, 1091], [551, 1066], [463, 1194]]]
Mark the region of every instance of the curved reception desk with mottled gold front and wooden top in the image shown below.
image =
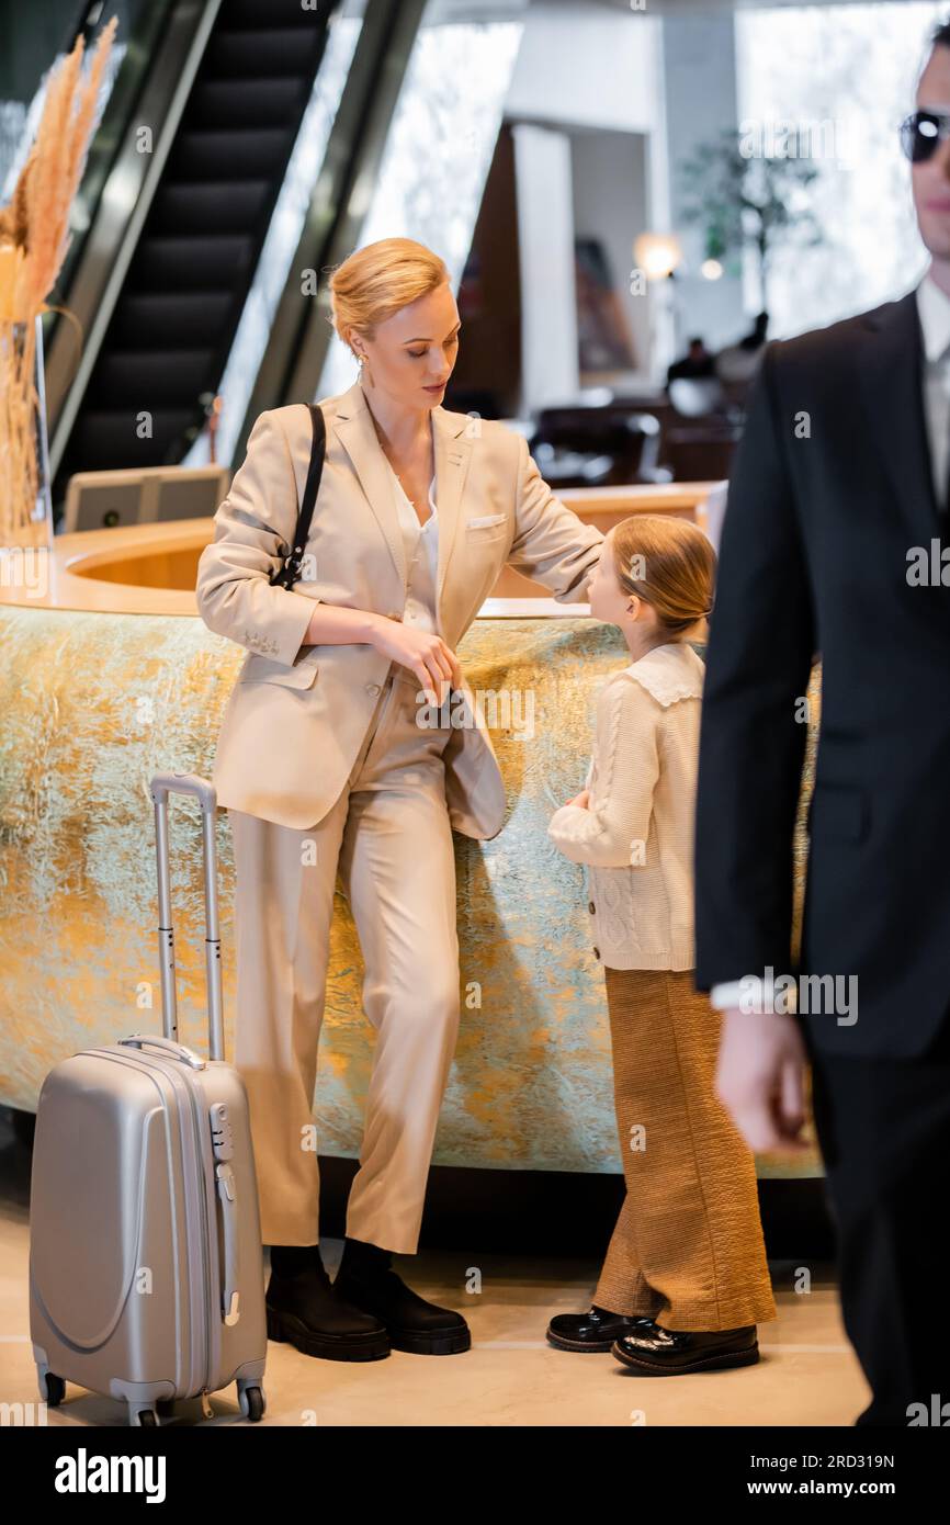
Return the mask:
[[[608, 528], [630, 512], [694, 515], [701, 483], [569, 494]], [[210, 776], [244, 650], [212, 634], [194, 599], [210, 520], [64, 535], [46, 576], [0, 587], [0, 1101], [34, 1109], [67, 1054], [160, 1031], [152, 811], [159, 769]], [[589, 933], [584, 869], [546, 834], [581, 787], [596, 691], [625, 665], [611, 625], [506, 572], [459, 645], [473, 689], [506, 694], [491, 727], [508, 788], [503, 831], [456, 836], [462, 1028], [435, 1164], [618, 1171], [602, 970]], [[523, 583], [525, 580], [518, 580]], [[511, 593], [525, 596], [511, 596]], [[701, 644], [700, 644], [701, 650]], [[798, 913], [805, 863], [796, 830]], [[314, 759], [319, 766], [319, 758]], [[206, 1048], [203, 895], [195, 802], [171, 811], [180, 1039]], [[233, 1052], [233, 857], [218, 822], [227, 1052]], [[316, 1116], [323, 1154], [355, 1156], [374, 1034], [360, 1006], [361, 958], [337, 892]], [[759, 1174], [820, 1174], [814, 1148]]]

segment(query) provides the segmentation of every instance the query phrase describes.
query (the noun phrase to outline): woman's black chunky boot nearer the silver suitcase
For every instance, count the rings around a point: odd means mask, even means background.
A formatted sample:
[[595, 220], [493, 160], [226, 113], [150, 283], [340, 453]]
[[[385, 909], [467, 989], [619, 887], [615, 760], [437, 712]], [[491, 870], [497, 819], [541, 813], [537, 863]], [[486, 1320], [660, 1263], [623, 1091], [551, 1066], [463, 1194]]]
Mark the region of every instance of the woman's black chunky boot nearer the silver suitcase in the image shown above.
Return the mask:
[[271, 1244], [267, 1337], [325, 1360], [381, 1360], [386, 1325], [334, 1295], [319, 1244]]

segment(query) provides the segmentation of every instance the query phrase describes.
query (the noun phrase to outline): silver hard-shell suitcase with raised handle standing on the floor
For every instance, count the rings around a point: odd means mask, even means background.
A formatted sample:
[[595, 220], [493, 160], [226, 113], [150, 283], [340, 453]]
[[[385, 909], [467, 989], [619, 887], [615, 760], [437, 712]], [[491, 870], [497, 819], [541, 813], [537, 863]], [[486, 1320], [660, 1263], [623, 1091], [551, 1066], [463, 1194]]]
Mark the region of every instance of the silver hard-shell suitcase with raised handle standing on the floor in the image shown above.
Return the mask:
[[[201, 805], [209, 1060], [177, 1042], [171, 791]], [[259, 1420], [264, 1257], [247, 1093], [223, 1057], [217, 796], [195, 775], [156, 773], [151, 798], [165, 1035], [84, 1049], [43, 1083], [29, 1257], [40, 1394], [55, 1406], [75, 1382], [124, 1398], [131, 1424], [157, 1424], [159, 1405], [236, 1382]]]

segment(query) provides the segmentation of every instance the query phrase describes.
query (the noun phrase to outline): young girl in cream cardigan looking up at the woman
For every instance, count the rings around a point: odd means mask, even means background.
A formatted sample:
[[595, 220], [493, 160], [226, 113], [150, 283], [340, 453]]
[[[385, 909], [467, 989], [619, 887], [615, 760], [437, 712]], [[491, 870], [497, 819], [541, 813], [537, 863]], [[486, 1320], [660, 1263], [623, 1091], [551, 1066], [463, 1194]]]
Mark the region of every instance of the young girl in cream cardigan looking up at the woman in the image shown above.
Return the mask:
[[589, 787], [547, 828], [587, 865], [627, 1182], [590, 1310], [558, 1315], [547, 1337], [643, 1376], [752, 1365], [756, 1322], [778, 1316], [755, 1162], [715, 1095], [721, 1017], [694, 985], [704, 666], [683, 636], [711, 612], [714, 576], [686, 520], [642, 514], [607, 535], [590, 612], [621, 627], [631, 660], [598, 697]]

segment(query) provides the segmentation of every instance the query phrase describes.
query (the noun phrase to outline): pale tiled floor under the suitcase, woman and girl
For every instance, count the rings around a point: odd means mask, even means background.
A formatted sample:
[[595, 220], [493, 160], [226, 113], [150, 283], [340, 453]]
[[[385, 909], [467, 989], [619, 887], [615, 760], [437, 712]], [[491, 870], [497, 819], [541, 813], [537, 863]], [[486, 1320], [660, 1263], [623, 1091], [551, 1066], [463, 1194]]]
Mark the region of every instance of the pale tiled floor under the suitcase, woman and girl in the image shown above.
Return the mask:
[[[0, 1405], [38, 1405], [29, 1344], [27, 1170], [23, 1148], [0, 1135]], [[342, 1244], [326, 1240], [335, 1270]], [[422, 1254], [396, 1261], [424, 1296], [465, 1313], [473, 1348], [462, 1356], [407, 1356], [348, 1363], [268, 1345], [265, 1424], [371, 1426], [807, 1426], [854, 1423], [868, 1389], [846, 1342], [828, 1267], [811, 1267], [796, 1293], [793, 1266], [773, 1266], [779, 1318], [759, 1325], [756, 1366], [666, 1380], [628, 1374], [611, 1356], [573, 1356], [544, 1340], [557, 1312], [589, 1305], [593, 1261]], [[480, 1293], [465, 1290], [471, 1270]], [[233, 1388], [212, 1397], [210, 1423], [244, 1423]], [[163, 1423], [200, 1420], [200, 1401]], [[108, 1398], [67, 1386], [47, 1424], [125, 1424]]]

